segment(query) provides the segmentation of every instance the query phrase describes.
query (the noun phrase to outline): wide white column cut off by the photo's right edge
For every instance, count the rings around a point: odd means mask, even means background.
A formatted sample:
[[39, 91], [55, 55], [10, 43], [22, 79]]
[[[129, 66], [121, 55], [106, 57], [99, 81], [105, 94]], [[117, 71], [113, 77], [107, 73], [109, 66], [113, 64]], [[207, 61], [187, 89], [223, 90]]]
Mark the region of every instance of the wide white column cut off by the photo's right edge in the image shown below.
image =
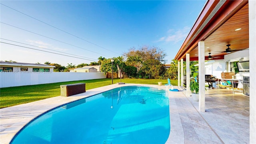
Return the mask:
[[250, 144], [256, 144], [256, 1], [249, 0]]

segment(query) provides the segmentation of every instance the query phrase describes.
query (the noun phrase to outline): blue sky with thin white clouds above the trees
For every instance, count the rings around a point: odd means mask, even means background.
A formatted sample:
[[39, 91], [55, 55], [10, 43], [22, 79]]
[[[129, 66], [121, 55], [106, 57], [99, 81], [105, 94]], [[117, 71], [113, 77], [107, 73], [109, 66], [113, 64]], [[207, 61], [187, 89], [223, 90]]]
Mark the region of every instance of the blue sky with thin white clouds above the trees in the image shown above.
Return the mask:
[[62, 66], [122, 56], [144, 45], [162, 48], [170, 64], [205, 4], [204, 0], [0, 2], [0, 41], [9, 43], [0, 43], [0, 60]]

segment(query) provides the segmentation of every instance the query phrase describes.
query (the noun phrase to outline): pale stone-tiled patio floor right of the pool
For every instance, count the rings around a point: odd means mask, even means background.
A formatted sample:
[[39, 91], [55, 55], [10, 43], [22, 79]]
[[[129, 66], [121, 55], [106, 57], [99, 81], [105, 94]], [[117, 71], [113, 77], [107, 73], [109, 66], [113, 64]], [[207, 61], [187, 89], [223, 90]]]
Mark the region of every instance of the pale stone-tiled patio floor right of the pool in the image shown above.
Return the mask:
[[206, 91], [206, 112], [186, 96], [170, 97], [171, 132], [167, 144], [249, 144], [249, 97], [228, 89]]

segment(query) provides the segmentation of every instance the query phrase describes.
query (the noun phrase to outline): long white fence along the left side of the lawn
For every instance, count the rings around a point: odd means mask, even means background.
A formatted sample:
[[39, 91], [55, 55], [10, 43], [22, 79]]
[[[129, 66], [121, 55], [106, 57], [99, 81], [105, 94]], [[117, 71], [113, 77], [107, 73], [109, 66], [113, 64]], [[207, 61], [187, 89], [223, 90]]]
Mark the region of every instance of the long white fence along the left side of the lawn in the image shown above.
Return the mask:
[[100, 78], [104, 72], [0, 72], [0, 88]]

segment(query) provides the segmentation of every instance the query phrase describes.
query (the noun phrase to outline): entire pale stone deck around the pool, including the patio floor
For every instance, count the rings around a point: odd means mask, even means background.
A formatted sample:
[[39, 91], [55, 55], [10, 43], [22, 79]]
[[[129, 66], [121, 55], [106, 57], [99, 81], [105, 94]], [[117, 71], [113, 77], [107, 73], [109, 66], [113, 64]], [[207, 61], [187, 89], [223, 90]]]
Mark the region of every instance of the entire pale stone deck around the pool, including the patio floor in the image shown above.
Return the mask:
[[[86, 90], [74, 96], [56, 96], [0, 109], [0, 144], [13, 136], [36, 116], [74, 100], [120, 86], [166, 86], [148, 84], [113, 84]], [[175, 87], [177, 88], [177, 87]], [[170, 92], [171, 131], [166, 144], [249, 144], [249, 96], [228, 89], [206, 91], [206, 112], [198, 111], [198, 102], [186, 96], [186, 90]]]

